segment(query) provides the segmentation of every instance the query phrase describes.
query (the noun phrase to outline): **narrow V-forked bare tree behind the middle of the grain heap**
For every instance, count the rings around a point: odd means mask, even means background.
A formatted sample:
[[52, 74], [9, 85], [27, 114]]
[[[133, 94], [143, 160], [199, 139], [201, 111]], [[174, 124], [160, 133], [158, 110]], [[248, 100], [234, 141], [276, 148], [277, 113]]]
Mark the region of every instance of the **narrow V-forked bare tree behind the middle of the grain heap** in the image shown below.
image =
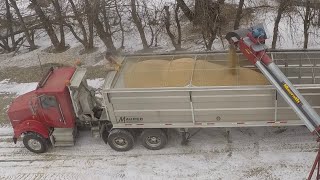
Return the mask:
[[170, 37], [171, 43], [174, 46], [175, 50], [181, 50], [181, 26], [180, 26], [180, 21], [178, 17], [179, 6], [176, 6], [175, 8], [175, 22], [177, 24], [177, 31], [178, 31], [177, 38], [170, 30], [171, 18], [170, 18], [169, 6], [164, 6], [164, 9], [165, 9], [164, 19], [165, 19], [165, 27], [167, 30], [167, 34]]

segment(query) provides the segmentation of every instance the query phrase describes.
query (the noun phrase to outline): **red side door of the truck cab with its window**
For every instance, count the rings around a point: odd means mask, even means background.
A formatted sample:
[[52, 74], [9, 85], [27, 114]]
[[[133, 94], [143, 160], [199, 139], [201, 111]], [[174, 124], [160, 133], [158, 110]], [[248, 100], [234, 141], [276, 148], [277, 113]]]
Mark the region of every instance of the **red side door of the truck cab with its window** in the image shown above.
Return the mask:
[[66, 121], [57, 98], [53, 95], [42, 95], [39, 97], [43, 119], [55, 127], [63, 127]]

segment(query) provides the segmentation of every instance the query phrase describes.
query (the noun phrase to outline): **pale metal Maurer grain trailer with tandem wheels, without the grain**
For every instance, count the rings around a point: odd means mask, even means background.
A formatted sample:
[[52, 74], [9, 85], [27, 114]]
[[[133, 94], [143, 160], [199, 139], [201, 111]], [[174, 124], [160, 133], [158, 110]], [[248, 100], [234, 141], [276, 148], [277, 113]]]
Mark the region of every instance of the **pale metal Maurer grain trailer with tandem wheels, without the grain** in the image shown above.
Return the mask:
[[[269, 52], [268, 55], [320, 113], [320, 53]], [[165, 133], [169, 128], [180, 129], [185, 142], [188, 128], [304, 125], [271, 84], [199, 87], [192, 84], [192, 76], [185, 87], [128, 88], [124, 83], [125, 73], [133, 63], [186, 57], [194, 62], [205, 59], [226, 64], [228, 61], [227, 53], [127, 56], [119, 71], [107, 74], [102, 94], [112, 124], [108, 140], [112, 148], [131, 149], [133, 142], [128, 141], [133, 140], [131, 132], [137, 129], [142, 130], [145, 147], [161, 149], [167, 142]], [[256, 70], [241, 54], [238, 57], [240, 67]], [[125, 137], [128, 135], [130, 138]]]

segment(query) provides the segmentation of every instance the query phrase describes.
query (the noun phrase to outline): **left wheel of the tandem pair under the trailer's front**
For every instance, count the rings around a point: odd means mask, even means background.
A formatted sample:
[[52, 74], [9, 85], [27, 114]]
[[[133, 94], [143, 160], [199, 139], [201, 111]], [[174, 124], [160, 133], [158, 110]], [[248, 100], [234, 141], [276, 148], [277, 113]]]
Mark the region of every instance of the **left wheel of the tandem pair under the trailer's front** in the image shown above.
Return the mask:
[[133, 148], [134, 138], [124, 129], [113, 129], [108, 136], [109, 146], [116, 151], [129, 151]]

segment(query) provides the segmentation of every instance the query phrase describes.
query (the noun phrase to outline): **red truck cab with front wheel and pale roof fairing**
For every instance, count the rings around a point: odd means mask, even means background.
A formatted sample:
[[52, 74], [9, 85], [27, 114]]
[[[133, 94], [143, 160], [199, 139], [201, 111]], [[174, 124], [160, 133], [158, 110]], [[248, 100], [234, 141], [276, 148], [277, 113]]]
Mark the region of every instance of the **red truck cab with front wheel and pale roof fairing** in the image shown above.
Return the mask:
[[22, 135], [28, 150], [42, 153], [49, 145], [74, 145], [78, 126], [90, 127], [99, 136], [106, 113], [85, 73], [80, 67], [50, 68], [35, 90], [16, 98], [8, 109], [14, 142]]

